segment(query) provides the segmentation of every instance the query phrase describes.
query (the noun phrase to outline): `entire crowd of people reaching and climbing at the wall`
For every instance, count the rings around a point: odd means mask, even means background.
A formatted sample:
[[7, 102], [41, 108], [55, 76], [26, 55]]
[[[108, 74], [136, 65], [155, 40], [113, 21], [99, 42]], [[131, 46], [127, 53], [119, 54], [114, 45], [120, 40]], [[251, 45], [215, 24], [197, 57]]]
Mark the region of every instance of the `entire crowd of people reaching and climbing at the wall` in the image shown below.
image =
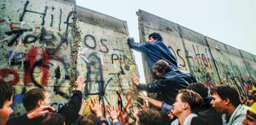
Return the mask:
[[[197, 83], [195, 77], [177, 69], [177, 60], [171, 54], [159, 33], [152, 33], [146, 43], [136, 43], [128, 39], [130, 48], [147, 55], [147, 63], [154, 74], [152, 82], [142, 84], [139, 77], [132, 73], [132, 81], [140, 90], [154, 93], [146, 96], [139, 92], [143, 100], [140, 107], [132, 107], [130, 115], [136, 125], [238, 125], [256, 124], [256, 88], [253, 87], [243, 98], [236, 88], [218, 85], [210, 88]], [[119, 125], [120, 111], [109, 105], [107, 111], [111, 120], [106, 120], [102, 101], [91, 99], [91, 105], [82, 98], [84, 77], [76, 79], [76, 89], [72, 97], [61, 109], [54, 109], [50, 93], [44, 88], [33, 88], [23, 96], [23, 106], [27, 113], [9, 119], [14, 113], [11, 108], [16, 90], [0, 81], [0, 125]], [[150, 103], [152, 108], [147, 107]], [[89, 106], [92, 114], [83, 115]], [[109, 123], [111, 122], [111, 123]]]

